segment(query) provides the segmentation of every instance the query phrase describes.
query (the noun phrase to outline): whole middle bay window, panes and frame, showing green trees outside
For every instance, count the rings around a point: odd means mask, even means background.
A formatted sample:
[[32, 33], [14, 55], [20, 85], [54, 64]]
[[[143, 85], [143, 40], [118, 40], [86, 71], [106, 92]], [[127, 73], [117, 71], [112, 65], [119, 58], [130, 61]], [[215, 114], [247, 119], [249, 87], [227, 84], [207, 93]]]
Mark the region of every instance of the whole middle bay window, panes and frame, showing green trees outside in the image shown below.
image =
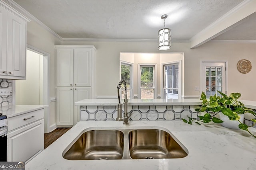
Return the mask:
[[156, 64], [141, 65], [138, 73], [139, 77], [139, 98], [140, 99], [154, 99], [156, 96]]

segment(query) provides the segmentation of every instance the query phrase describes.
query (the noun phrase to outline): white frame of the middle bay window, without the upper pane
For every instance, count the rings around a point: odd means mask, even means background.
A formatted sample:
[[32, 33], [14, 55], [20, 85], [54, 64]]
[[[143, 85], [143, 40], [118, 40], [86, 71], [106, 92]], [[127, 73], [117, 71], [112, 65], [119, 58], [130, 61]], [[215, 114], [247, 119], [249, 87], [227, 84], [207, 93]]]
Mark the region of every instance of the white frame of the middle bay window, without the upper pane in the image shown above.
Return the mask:
[[[141, 77], [140, 77], [140, 67], [141, 66], [153, 66], [153, 88], [140, 88]], [[156, 98], [156, 90], [157, 90], [157, 64], [138, 64], [138, 98], [141, 99], [141, 89], [154, 89], [154, 99]]]

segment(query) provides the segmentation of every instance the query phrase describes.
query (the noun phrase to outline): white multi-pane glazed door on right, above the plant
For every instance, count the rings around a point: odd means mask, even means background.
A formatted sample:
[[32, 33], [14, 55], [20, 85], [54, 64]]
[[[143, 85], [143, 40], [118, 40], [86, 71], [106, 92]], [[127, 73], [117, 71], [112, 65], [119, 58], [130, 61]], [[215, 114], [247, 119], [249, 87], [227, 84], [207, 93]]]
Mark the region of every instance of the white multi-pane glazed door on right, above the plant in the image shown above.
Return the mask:
[[226, 63], [202, 63], [202, 91], [208, 98], [226, 94]]

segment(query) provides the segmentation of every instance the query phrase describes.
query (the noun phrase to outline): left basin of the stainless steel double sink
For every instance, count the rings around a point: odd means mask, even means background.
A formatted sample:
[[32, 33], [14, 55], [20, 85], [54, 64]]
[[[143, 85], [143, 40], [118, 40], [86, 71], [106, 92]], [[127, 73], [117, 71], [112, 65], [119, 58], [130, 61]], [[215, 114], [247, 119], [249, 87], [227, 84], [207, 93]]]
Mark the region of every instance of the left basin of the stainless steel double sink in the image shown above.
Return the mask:
[[118, 130], [91, 130], [83, 133], [64, 154], [68, 160], [121, 159], [124, 133]]

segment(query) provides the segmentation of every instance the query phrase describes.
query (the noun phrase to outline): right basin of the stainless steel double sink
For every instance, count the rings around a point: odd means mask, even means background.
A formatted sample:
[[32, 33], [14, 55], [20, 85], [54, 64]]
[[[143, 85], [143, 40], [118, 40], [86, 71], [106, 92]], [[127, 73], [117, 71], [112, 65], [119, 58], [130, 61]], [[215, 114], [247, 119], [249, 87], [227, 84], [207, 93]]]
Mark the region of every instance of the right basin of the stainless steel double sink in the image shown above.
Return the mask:
[[183, 158], [188, 154], [166, 131], [139, 129], [129, 133], [132, 159]]

